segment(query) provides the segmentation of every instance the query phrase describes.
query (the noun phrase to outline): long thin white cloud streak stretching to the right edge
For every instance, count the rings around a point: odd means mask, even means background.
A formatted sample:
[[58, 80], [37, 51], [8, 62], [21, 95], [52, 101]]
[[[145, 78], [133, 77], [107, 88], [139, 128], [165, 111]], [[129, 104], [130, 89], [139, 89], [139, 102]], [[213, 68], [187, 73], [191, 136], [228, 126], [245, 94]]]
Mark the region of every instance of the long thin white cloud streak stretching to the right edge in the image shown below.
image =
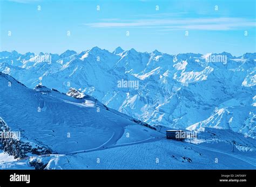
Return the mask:
[[244, 18], [183, 18], [183, 19], [140, 19], [123, 21], [100, 21], [84, 24], [93, 28], [114, 27], [145, 27], [157, 28], [159, 31], [168, 30], [237, 30], [255, 27], [255, 20]]

